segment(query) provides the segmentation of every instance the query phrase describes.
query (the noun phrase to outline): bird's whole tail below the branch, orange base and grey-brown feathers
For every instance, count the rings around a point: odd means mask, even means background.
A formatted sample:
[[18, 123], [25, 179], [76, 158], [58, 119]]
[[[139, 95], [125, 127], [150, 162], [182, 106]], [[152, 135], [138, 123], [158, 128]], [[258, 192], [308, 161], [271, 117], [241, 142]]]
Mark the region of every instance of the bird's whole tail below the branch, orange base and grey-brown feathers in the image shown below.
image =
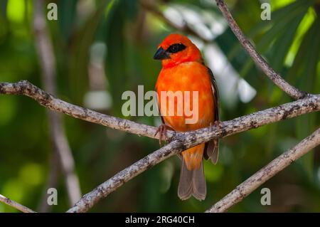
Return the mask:
[[[182, 200], [189, 199], [191, 195], [200, 201], [206, 199], [207, 188], [203, 173], [203, 149], [204, 144], [200, 144], [182, 153], [183, 158], [178, 186], [178, 196]], [[188, 159], [188, 157], [195, 155], [197, 158], [200, 157], [200, 159]], [[196, 161], [191, 162], [191, 160]]]

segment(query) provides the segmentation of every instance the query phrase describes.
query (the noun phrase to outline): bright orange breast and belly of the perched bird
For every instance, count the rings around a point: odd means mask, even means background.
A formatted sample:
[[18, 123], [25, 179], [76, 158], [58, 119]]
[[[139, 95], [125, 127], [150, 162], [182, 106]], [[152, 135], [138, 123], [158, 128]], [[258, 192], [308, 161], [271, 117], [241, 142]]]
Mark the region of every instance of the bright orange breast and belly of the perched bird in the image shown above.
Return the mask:
[[205, 65], [188, 62], [163, 68], [156, 92], [164, 122], [174, 130], [196, 130], [213, 122], [214, 99]]

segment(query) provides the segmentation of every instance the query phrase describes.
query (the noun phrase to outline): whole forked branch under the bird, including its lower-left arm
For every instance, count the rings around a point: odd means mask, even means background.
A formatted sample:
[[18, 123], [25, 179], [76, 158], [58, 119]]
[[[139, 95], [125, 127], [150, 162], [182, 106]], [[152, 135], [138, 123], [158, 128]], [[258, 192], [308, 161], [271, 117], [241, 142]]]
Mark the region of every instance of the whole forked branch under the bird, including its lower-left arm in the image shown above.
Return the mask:
[[[48, 107], [50, 110], [63, 112], [66, 115], [76, 117], [88, 122], [97, 123], [117, 130], [131, 132], [133, 134], [154, 137], [156, 127], [138, 124], [129, 120], [124, 120], [109, 115], [88, 110], [77, 105], [64, 102], [50, 95], [26, 80], [18, 83], [0, 83], [0, 94], [9, 95], [26, 95], [33, 98], [41, 105]], [[132, 166], [120, 171], [114, 177], [97, 186], [95, 190], [82, 196], [78, 203], [70, 208], [70, 212], [84, 212], [97, 203], [100, 199], [110, 194], [110, 192], [122, 186], [125, 182], [134, 176], [141, 174], [146, 169], [153, 167], [155, 164], [164, 161], [174, 154], [196, 146], [210, 139], [226, 137], [231, 134], [243, 132], [253, 128], [261, 127], [272, 122], [286, 120], [309, 112], [320, 110], [320, 95], [307, 95], [304, 99], [294, 102], [288, 102], [284, 105], [272, 107], [267, 110], [252, 113], [242, 117], [222, 122], [219, 127], [206, 127], [201, 130], [191, 132], [169, 132], [169, 144], [154, 153], [149, 154], [144, 159], [139, 160]]]

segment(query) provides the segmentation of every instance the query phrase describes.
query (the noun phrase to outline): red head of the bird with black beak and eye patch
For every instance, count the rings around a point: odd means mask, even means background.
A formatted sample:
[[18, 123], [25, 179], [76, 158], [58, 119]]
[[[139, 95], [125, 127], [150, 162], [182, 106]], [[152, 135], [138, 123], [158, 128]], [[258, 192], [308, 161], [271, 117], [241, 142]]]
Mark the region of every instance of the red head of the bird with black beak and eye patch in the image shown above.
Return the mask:
[[180, 34], [171, 34], [158, 46], [155, 60], [161, 60], [164, 67], [172, 67], [189, 61], [203, 62], [201, 52], [190, 39]]

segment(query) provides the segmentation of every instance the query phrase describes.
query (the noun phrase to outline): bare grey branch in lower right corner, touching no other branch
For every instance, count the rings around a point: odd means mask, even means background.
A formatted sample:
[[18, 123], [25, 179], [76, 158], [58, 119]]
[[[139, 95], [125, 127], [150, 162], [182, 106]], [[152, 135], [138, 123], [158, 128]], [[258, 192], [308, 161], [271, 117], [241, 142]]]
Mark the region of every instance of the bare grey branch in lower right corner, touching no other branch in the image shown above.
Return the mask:
[[320, 128], [309, 137], [303, 139], [302, 142], [299, 142], [299, 144], [292, 147], [292, 149], [289, 149], [287, 152], [267, 164], [267, 166], [260, 169], [260, 171], [257, 171], [257, 173], [250, 176], [250, 178], [237, 186], [206, 212], [218, 213], [228, 211], [231, 206], [238, 204], [242, 199], [245, 199], [246, 196], [251, 194], [252, 191], [255, 191], [255, 189], [264, 184], [265, 181], [272, 178], [272, 176], [279, 173], [279, 171], [282, 171], [282, 169], [289, 166], [289, 164], [292, 164], [292, 162], [295, 162], [319, 144]]

